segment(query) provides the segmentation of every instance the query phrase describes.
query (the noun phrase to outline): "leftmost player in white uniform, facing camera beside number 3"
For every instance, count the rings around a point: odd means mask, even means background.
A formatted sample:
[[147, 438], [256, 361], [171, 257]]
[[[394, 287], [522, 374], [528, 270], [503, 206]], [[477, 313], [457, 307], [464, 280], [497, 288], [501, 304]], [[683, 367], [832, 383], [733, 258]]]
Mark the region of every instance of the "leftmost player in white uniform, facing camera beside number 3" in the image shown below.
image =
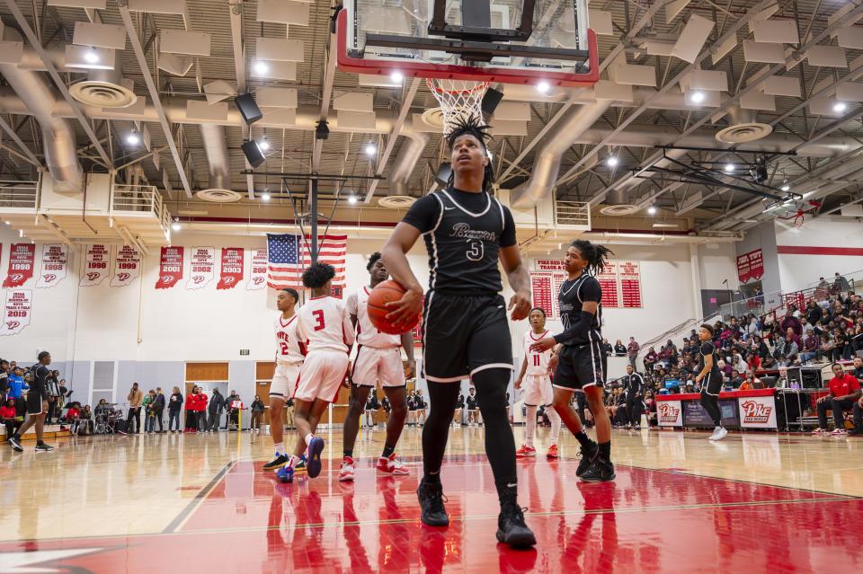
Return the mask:
[[289, 455], [282, 443], [285, 425], [282, 413], [285, 401], [294, 396], [299, 380], [299, 367], [306, 358], [306, 341], [297, 334], [297, 303], [299, 294], [295, 289], [282, 289], [276, 296], [279, 316], [273, 322], [276, 333], [276, 370], [270, 384], [270, 434], [276, 455], [263, 465], [265, 471], [275, 471], [288, 464]]

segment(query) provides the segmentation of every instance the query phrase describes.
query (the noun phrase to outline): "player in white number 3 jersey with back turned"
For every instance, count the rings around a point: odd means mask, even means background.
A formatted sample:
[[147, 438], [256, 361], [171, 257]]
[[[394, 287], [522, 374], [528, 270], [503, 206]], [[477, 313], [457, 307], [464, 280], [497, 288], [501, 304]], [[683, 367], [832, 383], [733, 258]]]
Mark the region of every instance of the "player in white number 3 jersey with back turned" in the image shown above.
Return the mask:
[[343, 302], [330, 295], [334, 277], [335, 269], [326, 263], [312, 263], [303, 273], [303, 285], [311, 289], [312, 298], [299, 310], [297, 334], [307, 341], [308, 354], [294, 390], [299, 440], [289, 463], [279, 469], [282, 482], [294, 480], [294, 467], [304, 451], [308, 477], [321, 473], [324, 439], [314, 434], [317, 421], [338, 397], [341, 385], [347, 384], [355, 335]]

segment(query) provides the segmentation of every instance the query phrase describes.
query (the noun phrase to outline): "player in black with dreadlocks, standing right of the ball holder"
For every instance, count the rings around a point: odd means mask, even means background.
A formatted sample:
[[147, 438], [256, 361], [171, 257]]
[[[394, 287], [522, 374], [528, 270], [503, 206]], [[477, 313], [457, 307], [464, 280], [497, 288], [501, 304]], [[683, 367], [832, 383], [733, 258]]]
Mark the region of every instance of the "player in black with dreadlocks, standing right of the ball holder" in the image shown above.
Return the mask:
[[[557, 293], [564, 332], [540, 339], [530, 350], [544, 351], [558, 345], [555, 368], [554, 407], [566, 428], [582, 446], [582, 460], [575, 474], [586, 482], [613, 481], [611, 464], [611, 420], [602, 402], [608, 358], [602, 350], [602, 289], [593, 275], [602, 269], [610, 252], [589, 241], [574, 241], [566, 250], [564, 267], [569, 274]], [[593, 442], [584, 432], [582, 420], [570, 405], [573, 393], [584, 393], [596, 424]]]

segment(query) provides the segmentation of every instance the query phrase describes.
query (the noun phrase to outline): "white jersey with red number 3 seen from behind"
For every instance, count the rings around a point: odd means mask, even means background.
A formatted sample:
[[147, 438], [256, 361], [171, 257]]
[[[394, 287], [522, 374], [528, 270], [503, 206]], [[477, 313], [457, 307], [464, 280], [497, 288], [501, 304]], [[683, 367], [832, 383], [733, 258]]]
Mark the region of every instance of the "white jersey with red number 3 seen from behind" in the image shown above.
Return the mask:
[[312, 297], [299, 310], [297, 333], [307, 340], [308, 351], [348, 352], [355, 334], [351, 317], [341, 299]]

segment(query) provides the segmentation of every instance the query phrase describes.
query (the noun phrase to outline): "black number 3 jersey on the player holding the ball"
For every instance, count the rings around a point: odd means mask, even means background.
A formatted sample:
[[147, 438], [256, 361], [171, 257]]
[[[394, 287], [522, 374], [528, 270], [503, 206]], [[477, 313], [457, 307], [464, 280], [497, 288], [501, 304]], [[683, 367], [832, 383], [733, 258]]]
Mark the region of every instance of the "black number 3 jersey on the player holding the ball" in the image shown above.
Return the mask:
[[[512, 215], [500, 201], [486, 193], [477, 196], [481, 208], [471, 211], [456, 199], [465, 194], [455, 190], [431, 193], [414, 204], [405, 222], [416, 226], [425, 237], [431, 290], [496, 294], [503, 289], [497, 265], [500, 249], [502, 245], [515, 243], [514, 224], [509, 230], [512, 239], [508, 236], [502, 242], [504, 230], [511, 226], [507, 223], [512, 222]], [[428, 208], [433, 208], [436, 219], [426, 226], [421, 217]]]

